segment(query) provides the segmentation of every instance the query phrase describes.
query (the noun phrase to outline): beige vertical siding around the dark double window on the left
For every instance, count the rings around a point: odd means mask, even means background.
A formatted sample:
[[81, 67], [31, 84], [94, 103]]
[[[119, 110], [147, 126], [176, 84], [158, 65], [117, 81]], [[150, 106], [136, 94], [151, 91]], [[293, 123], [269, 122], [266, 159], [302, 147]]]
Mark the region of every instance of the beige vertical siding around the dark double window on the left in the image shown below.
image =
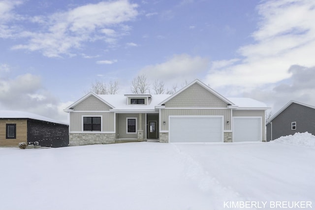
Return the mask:
[[115, 132], [115, 113], [113, 112], [70, 112], [70, 132], [82, 132], [82, 116], [102, 116], [102, 132]]

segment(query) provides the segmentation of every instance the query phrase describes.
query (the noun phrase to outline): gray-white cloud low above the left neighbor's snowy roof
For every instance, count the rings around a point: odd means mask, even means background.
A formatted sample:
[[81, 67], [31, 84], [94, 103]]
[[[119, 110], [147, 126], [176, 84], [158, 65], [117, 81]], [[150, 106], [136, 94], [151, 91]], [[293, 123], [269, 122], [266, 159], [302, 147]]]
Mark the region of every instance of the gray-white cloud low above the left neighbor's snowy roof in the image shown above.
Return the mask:
[[67, 121], [63, 109], [67, 103], [45, 90], [40, 76], [18, 75], [0, 79], [0, 109], [32, 112], [52, 119]]

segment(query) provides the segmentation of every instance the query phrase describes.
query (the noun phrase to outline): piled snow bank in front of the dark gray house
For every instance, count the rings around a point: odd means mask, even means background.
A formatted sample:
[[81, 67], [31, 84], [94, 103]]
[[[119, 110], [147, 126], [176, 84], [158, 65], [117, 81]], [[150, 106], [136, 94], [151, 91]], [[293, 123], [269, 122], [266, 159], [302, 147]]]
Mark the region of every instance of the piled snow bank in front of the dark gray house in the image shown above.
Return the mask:
[[294, 146], [315, 147], [315, 136], [308, 132], [295, 133], [294, 135], [282, 136], [272, 142]]

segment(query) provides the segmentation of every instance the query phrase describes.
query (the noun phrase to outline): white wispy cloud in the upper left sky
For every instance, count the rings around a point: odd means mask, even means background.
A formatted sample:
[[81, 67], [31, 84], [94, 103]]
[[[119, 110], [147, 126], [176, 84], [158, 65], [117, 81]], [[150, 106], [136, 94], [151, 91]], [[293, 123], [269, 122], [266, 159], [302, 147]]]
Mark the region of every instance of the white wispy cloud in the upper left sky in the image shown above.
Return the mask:
[[[121, 36], [128, 34], [131, 28], [124, 23], [138, 15], [136, 7], [128, 0], [101, 1], [47, 17], [28, 17], [29, 21], [37, 24], [37, 30], [21, 30], [23, 21], [18, 26], [19, 30], [14, 29], [9, 27], [8, 22], [0, 27], [0, 34], [2, 32], [1, 36], [6, 38], [14, 34], [16, 38], [27, 39], [27, 43], [13, 46], [14, 50], [40, 51], [46, 57], [72, 56], [72, 49], [81, 48], [84, 42], [103, 40], [114, 44]], [[12, 9], [10, 7], [10, 11]]]

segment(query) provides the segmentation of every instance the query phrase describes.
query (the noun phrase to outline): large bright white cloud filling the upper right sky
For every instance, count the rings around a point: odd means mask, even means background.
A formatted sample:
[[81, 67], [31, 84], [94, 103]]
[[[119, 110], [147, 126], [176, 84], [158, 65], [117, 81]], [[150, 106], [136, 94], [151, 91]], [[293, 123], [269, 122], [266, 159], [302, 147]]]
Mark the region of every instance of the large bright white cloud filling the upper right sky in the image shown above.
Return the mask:
[[310, 0], [262, 1], [257, 6], [261, 20], [252, 33], [255, 43], [240, 47], [241, 59], [227, 66], [214, 61], [207, 82], [237, 94], [289, 78], [291, 65], [314, 66], [314, 7]]

